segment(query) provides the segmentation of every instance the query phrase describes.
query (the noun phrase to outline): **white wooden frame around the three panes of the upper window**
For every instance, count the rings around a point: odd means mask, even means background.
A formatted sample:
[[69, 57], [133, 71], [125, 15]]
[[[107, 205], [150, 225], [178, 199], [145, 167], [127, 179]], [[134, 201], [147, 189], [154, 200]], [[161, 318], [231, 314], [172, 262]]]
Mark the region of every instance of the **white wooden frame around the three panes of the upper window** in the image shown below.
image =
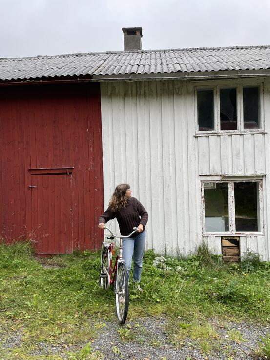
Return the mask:
[[[244, 106], [243, 106], [243, 87], [259, 88], [259, 127], [257, 129], [244, 129]], [[237, 133], [264, 133], [264, 83], [258, 79], [242, 79], [230, 80], [224, 82], [212, 81], [208, 83], [195, 83], [195, 134], [211, 135], [211, 134], [237, 134]], [[220, 129], [220, 96], [219, 90], [226, 88], [236, 88], [236, 104], [237, 104], [237, 130], [221, 130]], [[198, 106], [197, 91], [213, 90], [214, 92], [214, 130], [200, 131], [198, 124]]]

